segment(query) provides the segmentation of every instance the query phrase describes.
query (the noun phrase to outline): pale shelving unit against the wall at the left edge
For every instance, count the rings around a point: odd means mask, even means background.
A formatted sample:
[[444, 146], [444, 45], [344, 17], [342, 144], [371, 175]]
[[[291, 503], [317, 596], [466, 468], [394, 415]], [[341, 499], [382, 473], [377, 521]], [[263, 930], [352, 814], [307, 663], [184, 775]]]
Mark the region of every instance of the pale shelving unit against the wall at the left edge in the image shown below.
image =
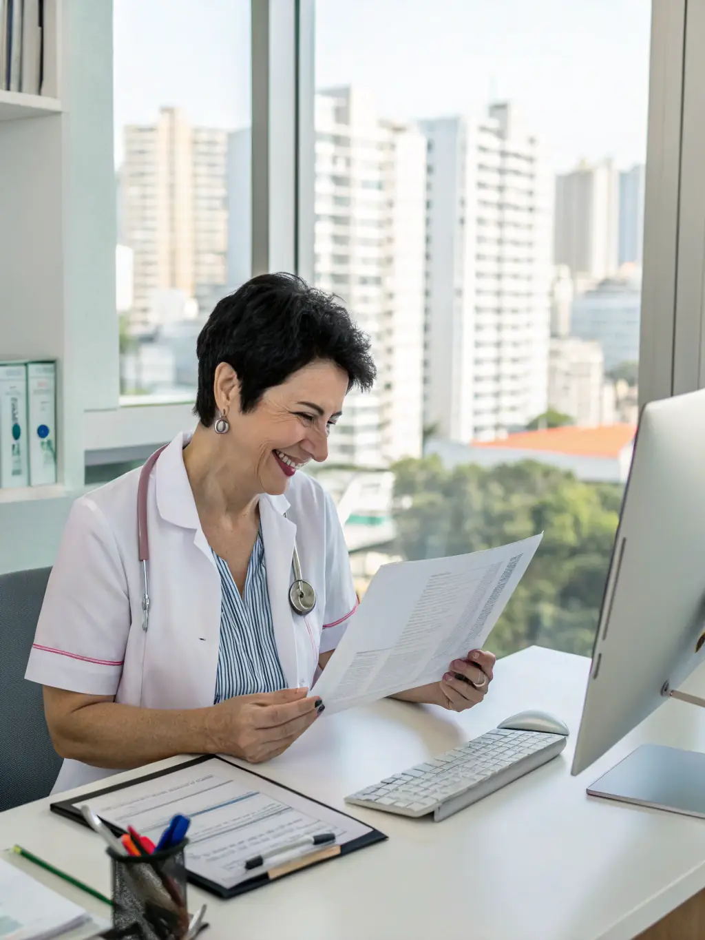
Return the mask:
[[0, 358], [56, 360], [57, 483], [0, 490], [0, 573], [53, 562], [86, 409], [118, 401], [112, 3], [44, 4], [55, 97], [0, 91]]

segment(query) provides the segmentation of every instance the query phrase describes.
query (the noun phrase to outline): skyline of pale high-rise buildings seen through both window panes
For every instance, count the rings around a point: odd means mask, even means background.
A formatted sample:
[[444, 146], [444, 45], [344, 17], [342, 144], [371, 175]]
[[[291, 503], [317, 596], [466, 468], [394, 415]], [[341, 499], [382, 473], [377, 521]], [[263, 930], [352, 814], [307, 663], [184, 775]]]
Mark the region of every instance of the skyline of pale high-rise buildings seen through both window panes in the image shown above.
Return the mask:
[[[548, 407], [580, 421], [616, 414], [605, 372], [638, 355], [640, 293], [617, 236], [636, 241], [642, 188], [618, 199], [609, 161], [555, 178], [511, 104], [475, 122], [399, 124], [374, 96], [340, 88], [317, 94], [315, 126], [313, 283], [343, 298], [379, 368], [374, 393], [347, 402], [339, 460], [418, 456], [425, 428], [493, 440]], [[164, 108], [124, 133], [133, 283], [122, 294], [133, 296], [128, 335], [144, 343], [125, 378], [189, 387], [198, 321], [249, 277], [250, 132], [194, 128]], [[554, 204], [554, 179], [579, 197]], [[554, 227], [565, 256], [552, 252]]]

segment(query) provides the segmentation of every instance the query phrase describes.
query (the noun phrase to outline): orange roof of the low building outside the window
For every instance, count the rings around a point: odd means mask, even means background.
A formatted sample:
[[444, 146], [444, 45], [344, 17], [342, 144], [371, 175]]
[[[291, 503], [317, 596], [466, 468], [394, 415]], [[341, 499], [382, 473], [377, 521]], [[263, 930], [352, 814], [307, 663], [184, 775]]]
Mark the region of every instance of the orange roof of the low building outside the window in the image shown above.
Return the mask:
[[521, 431], [496, 441], [473, 441], [474, 447], [542, 450], [584, 457], [618, 457], [636, 433], [633, 424], [605, 424], [597, 428], [548, 428]]

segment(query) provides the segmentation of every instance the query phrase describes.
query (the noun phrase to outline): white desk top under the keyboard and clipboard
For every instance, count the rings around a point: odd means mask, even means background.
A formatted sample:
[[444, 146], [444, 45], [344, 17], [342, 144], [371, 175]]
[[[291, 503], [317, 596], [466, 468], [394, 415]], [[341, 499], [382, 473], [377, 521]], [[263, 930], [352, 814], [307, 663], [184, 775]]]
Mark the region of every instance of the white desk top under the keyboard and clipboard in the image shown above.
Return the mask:
[[[668, 701], [573, 778], [587, 668], [535, 647], [502, 660], [487, 701], [462, 715], [383, 701], [324, 716], [258, 770], [341, 809], [346, 793], [525, 708], [556, 713], [572, 737], [559, 758], [444, 823], [350, 807], [389, 840], [232, 901], [191, 888], [192, 909], [208, 901], [204, 940], [623, 940], [665, 917], [705, 887], [705, 823], [589, 799], [585, 788], [645, 741], [705, 750], [705, 716]], [[0, 815], [0, 846], [14, 842], [110, 893], [101, 840], [48, 800]], [[105, 916], [99, 901], [27, 870]]]

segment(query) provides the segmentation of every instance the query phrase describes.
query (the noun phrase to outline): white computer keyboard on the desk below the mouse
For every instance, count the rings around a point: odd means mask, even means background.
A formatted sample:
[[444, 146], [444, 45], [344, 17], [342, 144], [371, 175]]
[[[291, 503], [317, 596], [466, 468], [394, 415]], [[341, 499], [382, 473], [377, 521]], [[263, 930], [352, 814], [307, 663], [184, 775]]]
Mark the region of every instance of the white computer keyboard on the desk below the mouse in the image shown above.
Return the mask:
[[346, 803], [402, 816], [433, 813], [436, 823], [557, 757], [563, 734], [495, 728], [433, 760], [366, 787]]

